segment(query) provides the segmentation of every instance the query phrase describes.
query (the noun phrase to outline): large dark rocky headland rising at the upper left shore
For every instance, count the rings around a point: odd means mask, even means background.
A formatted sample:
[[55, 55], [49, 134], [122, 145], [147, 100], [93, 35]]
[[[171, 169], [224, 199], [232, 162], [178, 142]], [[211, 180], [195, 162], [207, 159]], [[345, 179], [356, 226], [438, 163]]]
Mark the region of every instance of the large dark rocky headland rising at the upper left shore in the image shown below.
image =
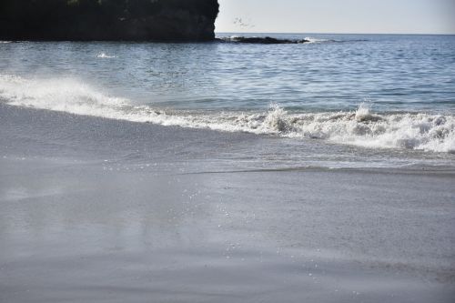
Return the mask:
[[209, 41], [217, 0], [0, 0], [2, 40]]

